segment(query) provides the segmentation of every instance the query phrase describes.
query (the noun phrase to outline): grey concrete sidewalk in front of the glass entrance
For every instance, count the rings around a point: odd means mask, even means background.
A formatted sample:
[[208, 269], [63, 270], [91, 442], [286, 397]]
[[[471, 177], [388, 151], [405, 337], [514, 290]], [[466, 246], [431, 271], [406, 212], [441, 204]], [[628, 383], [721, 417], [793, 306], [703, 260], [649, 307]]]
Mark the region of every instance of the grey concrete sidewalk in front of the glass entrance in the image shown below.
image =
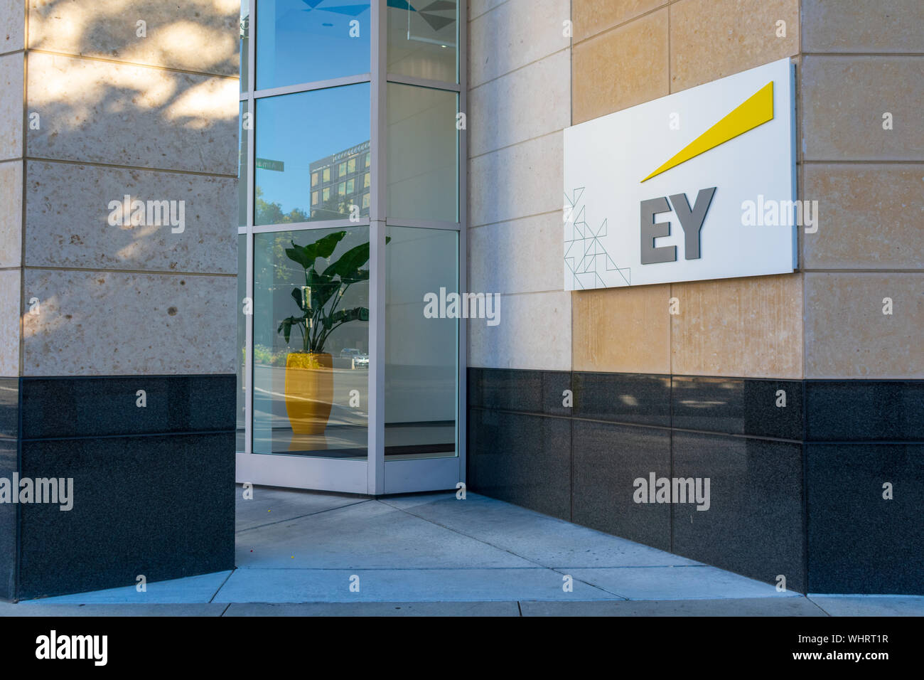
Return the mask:
[[233, 571], [0, 604], [13, 616], [439, 614], [922, 615], [924, 598], [780, 593], [472, 493], [255, 488], [237, 501]]

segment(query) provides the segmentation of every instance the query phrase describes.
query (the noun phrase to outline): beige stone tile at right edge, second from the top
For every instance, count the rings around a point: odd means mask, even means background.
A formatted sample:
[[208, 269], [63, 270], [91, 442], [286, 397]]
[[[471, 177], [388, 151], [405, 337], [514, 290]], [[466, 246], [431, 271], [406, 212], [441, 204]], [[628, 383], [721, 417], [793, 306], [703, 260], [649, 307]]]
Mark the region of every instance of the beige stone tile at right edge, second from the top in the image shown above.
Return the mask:
[[803, 158], [924, 161], [922, 72], [924, 56], [806, 56]]

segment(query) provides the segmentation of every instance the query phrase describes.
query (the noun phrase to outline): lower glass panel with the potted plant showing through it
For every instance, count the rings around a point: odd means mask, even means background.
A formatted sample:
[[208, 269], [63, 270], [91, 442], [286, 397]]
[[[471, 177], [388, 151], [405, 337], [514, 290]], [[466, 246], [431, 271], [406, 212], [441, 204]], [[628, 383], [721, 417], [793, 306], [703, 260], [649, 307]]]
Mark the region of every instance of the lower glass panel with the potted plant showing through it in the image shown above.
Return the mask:
[[366, 458], [368, 227], [254, 236], [253, 352], [254, 453]]

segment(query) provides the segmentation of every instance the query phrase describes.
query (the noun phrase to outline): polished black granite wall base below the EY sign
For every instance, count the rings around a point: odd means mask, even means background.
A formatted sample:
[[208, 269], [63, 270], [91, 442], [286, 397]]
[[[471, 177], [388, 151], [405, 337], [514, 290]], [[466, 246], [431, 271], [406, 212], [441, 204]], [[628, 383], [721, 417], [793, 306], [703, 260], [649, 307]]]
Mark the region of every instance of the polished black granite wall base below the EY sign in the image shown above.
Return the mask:
[[[798, 592], [924, 593], [920, 381], [469, 368], [468, 386], [472, 490]], [[650, 472], [709, 477], [710, 509], [635, 503]]]

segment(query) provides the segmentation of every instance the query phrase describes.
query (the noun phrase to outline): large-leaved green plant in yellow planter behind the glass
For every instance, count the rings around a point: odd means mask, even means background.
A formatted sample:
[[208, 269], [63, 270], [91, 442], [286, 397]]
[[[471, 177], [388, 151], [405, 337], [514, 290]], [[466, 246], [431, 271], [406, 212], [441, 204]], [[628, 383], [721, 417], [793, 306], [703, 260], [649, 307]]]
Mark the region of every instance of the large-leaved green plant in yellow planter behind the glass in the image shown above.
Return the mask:
[[[292, 289], [299, 315], [280, 324], [286, 344], [292, 328], [301, 333], [300, 348], [286, 356], [286, 414], [296, 434], [317, 435], [327, 427], [334, 402], [334, 360], [324, 346], [337, 328], [368, 321], [369, 309], [338, 308], [354, 283], [369, 280], [369, 243], [362, 243], [330, 262], [346, 231], [336, 231], [308, 245], [286, 248], [286, 256], [305, 270], [305, 285]], [[321, 268], [322, 267], [322, 268]]]

